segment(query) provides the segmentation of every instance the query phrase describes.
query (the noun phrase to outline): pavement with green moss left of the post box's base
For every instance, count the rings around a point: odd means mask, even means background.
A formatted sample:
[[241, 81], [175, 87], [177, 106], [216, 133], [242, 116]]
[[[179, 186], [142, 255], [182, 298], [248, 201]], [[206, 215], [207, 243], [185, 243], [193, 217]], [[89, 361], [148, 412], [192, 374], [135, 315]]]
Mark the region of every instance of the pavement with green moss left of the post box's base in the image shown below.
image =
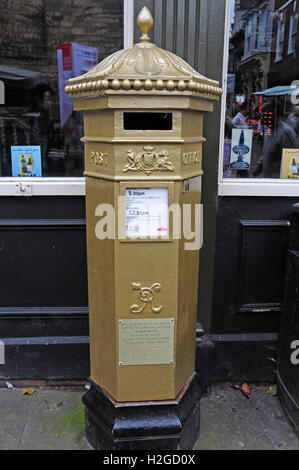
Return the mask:
[[0, 389], [0, 450], [89, 450], [83, 391]]

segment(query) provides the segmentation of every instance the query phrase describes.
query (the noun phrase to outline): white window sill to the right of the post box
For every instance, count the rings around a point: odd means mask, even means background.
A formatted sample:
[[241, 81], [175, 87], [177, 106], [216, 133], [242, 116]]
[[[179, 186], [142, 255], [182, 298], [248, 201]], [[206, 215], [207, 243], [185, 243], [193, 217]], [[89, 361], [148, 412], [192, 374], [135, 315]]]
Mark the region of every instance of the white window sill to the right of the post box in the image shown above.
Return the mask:
[[299, 197], [299, 180], [221, 180], [219, 196]]

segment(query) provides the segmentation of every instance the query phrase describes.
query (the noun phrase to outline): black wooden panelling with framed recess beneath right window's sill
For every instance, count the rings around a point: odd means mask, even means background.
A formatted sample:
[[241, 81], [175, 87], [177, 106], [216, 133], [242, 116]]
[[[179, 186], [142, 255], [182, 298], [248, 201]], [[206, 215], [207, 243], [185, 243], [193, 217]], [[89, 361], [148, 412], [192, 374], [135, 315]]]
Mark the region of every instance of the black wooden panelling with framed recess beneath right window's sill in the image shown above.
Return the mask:
[[290, 208], [295, 202], [218, 199], [213, 334], [278, 333]]

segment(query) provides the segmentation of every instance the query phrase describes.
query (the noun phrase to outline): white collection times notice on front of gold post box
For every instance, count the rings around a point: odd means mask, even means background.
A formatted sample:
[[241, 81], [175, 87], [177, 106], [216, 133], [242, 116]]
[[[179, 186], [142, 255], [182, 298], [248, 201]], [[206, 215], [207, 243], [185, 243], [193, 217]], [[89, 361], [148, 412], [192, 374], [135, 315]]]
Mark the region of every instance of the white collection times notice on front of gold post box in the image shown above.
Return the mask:
[[168, 238], [168, 189], [126, 189], [126, 236]]

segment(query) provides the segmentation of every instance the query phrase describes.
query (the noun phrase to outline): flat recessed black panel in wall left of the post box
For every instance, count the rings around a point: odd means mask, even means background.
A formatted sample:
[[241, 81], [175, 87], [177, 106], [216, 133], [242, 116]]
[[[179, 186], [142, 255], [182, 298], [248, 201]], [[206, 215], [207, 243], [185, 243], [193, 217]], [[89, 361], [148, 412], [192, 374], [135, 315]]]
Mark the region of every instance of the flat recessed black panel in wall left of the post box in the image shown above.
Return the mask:
[[86, 306], [85, 220], [0, 220], [1, 307]]

